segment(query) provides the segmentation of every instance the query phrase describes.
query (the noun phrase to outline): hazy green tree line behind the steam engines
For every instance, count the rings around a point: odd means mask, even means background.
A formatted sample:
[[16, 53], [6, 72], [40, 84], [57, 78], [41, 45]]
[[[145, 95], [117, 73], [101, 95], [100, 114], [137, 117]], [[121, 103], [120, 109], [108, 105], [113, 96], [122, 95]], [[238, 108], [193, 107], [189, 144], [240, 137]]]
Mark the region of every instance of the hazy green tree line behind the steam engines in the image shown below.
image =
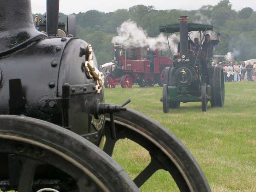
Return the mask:
[[[42, 14], [37, 15], [43, 17]], [[76, 32], [78, 38], [93, 45], [98, 63], [103, 64], [113, 59], [111, 40], [117, 35], [117, 27], [124, 21], [135, 21], [147, 31], [148, 36], [154, 37], [160, 33], [158, 26], [178, 23], [179, 16], [188, 16], [189, 22], [221, 28], [222, 41], [215, 47], [215, 54], [233, 52], [237, 61], [256, 58], [256, 12], [250, 7], [233, 10], [229, 0], [191, 11], [156, 10], [154, 6], [135, 5], [109, 13], [97, 10], [80, 12], [76, 14]], [[60, 13], [60, 19], [66, 22], [67, 15]]]

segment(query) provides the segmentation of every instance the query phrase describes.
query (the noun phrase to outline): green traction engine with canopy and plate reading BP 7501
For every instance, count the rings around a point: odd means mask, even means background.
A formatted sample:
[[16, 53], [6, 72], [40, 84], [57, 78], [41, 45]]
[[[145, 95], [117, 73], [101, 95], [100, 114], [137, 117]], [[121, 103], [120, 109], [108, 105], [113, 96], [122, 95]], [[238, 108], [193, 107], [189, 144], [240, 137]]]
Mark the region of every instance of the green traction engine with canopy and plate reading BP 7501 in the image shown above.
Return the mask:
[[[160, 26], [161, 32], [180, 31], [180, 53], [174, 55], [173, 67], [165, 68], [161, 102], [163, 112], [179, 108], [180, 103], [202, 102], [202, 111], [207, 110], [208, 101], [212, 107], [223, 107], [225, 99], [224, 74], [221, 66], [213, 67], [208, 51], [201, 50], [206, 31], [217, 31], [212, 25], [188, 23], [188, 17], [179, 17], [180, 24]], [[195, 53], [189, 50], [188, 34], [199, 31], [201, 44]], [[203, 37], [202, 37], [203, 34]], [[190, 41], [191, 42], [191, 41]]]

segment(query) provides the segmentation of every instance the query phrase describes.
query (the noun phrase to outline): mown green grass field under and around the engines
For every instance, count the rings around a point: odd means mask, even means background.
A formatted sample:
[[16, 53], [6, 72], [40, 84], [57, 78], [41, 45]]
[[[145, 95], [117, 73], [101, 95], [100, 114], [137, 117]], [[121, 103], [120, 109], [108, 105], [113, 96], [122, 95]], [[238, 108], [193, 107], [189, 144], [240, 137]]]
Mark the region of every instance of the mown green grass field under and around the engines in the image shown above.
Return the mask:
[[[162, 87], [104, 89], [105, 101], [121, 104], [127, 98], [132, 109], [151, 117], [181, 139], [194, 155], [212, 191], [256, 191], [256, 82], [225, 84], [225, 106], [201, 111], [201, 103], [181, 103], [179, 109], [163, 113]], [[143, 148], [124, 139], [114, 159], [135, 178], [149, 162]], [[170, 175], [156, 172], [141, 191], [178, 191]]]

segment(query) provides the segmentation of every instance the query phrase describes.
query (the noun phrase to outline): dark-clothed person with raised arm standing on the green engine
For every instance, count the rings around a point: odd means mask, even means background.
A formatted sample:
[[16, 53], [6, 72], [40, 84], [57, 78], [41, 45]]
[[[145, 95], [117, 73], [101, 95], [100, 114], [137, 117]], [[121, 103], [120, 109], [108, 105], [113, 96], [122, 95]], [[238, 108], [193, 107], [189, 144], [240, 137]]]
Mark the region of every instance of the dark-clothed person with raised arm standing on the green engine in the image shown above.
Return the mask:
[[204, 37], [204, 42], [202, 45], [202, 49], [207, 53], [207, 58], [212, 60], [213, 59], [213, 49], [214, 46], [217, 45], [221, 41], [221, 37], [219, 33], [217, 33], [217, 40], [211, 40], [211, 36], [206, 34]]

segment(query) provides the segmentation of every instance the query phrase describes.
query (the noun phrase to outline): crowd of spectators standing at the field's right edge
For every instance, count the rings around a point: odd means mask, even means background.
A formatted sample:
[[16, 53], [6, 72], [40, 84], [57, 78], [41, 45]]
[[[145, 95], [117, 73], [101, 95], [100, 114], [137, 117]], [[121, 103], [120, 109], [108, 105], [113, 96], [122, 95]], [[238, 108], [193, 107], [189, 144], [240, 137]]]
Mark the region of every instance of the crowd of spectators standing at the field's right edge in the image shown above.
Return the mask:
[[237, 61], [230, 62], [228, 65], [223, 65], [223, 71], [225, 82], [240, 82], [246, 75], [248, 81], [256, 81], [256, 62], [252, 64], [250, 61], [247, 63], [242, 61], [240, 65]]

